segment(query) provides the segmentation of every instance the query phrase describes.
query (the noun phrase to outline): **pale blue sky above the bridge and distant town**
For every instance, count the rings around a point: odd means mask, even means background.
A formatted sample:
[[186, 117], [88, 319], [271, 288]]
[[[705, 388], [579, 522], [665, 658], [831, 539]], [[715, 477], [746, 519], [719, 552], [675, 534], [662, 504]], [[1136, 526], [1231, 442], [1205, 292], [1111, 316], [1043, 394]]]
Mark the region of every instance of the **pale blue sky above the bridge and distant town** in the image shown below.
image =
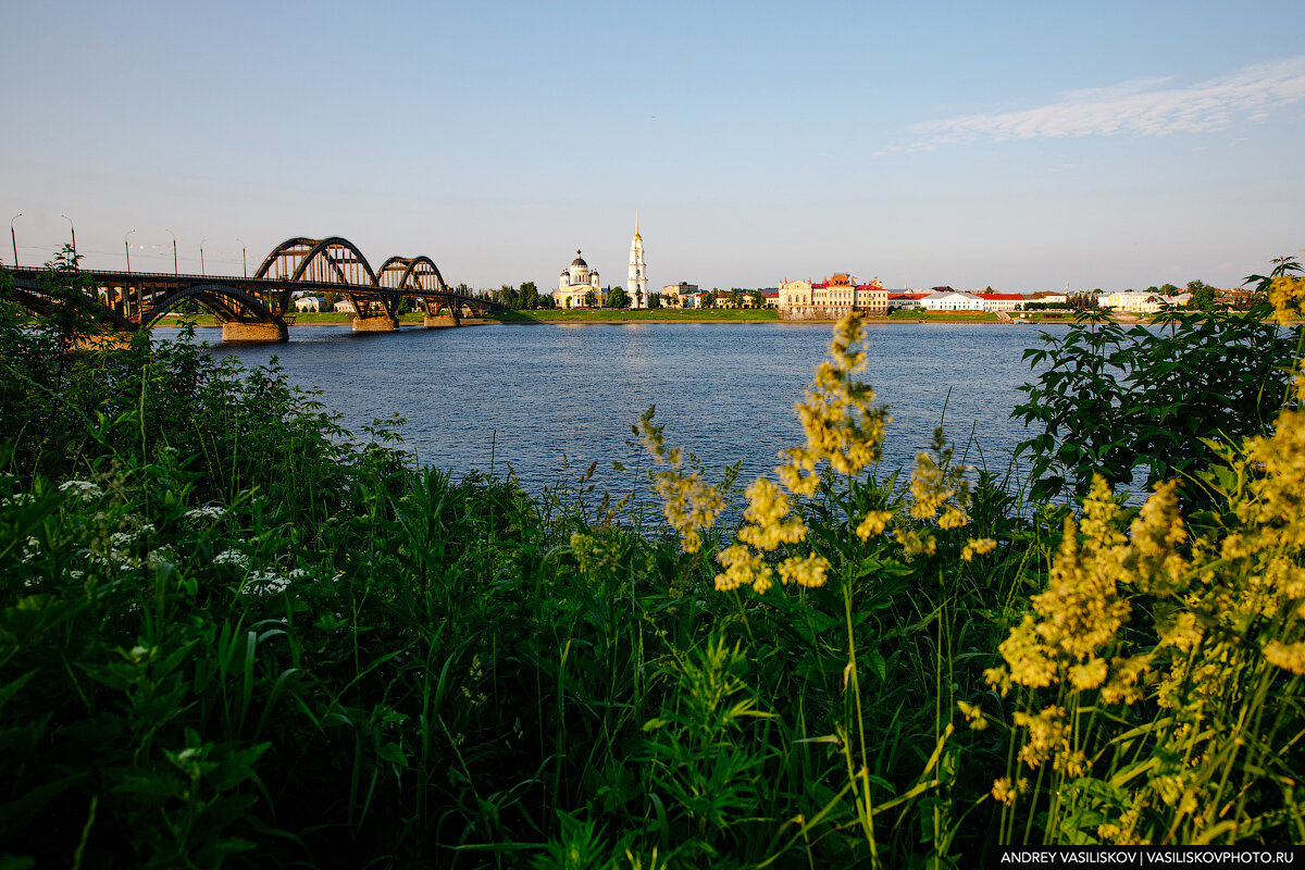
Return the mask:
[[[1240, 284], [1305, 247], [1305, 3], [0, 0], [20, 265], [249, 270], [292, 236], [446, 282], [850, 271]], [[67, 215], [67, 218], [64, 217]], [[0, 261], [13, 250], [0, 245]]]

